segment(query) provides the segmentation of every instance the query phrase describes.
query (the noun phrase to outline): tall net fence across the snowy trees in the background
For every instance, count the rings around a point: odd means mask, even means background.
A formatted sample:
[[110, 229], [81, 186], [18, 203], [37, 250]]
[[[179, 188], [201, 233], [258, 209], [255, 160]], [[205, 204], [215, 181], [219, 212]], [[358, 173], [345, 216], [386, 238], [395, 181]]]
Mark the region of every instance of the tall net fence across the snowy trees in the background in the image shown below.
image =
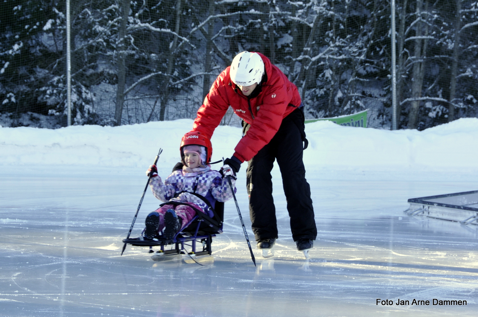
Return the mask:
[[[0, 9], [0, 124], [66, 125], [65, 0]], [[307, 118], [369, 109], [391, 126], [388, 0], [76, 0], [72, 123], [195, 118], [217, 75], [257, 51], [301, 93]], [[478, 3], [396, 0], [398, 128], [477, 115]], [[239, 125], [229, 109], [223, 125]]]

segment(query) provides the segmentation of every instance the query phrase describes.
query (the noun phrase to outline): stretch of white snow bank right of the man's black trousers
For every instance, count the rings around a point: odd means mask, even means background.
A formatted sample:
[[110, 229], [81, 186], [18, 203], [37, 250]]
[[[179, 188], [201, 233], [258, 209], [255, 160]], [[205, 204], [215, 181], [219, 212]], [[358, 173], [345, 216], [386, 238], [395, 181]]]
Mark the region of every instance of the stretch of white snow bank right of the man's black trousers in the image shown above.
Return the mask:
[[311, 150], [304, 162], [332, 169], [477, 170], [478, 119], [462, 118], [418, 130], [348, 127], [328, 121], [306, 125]]

